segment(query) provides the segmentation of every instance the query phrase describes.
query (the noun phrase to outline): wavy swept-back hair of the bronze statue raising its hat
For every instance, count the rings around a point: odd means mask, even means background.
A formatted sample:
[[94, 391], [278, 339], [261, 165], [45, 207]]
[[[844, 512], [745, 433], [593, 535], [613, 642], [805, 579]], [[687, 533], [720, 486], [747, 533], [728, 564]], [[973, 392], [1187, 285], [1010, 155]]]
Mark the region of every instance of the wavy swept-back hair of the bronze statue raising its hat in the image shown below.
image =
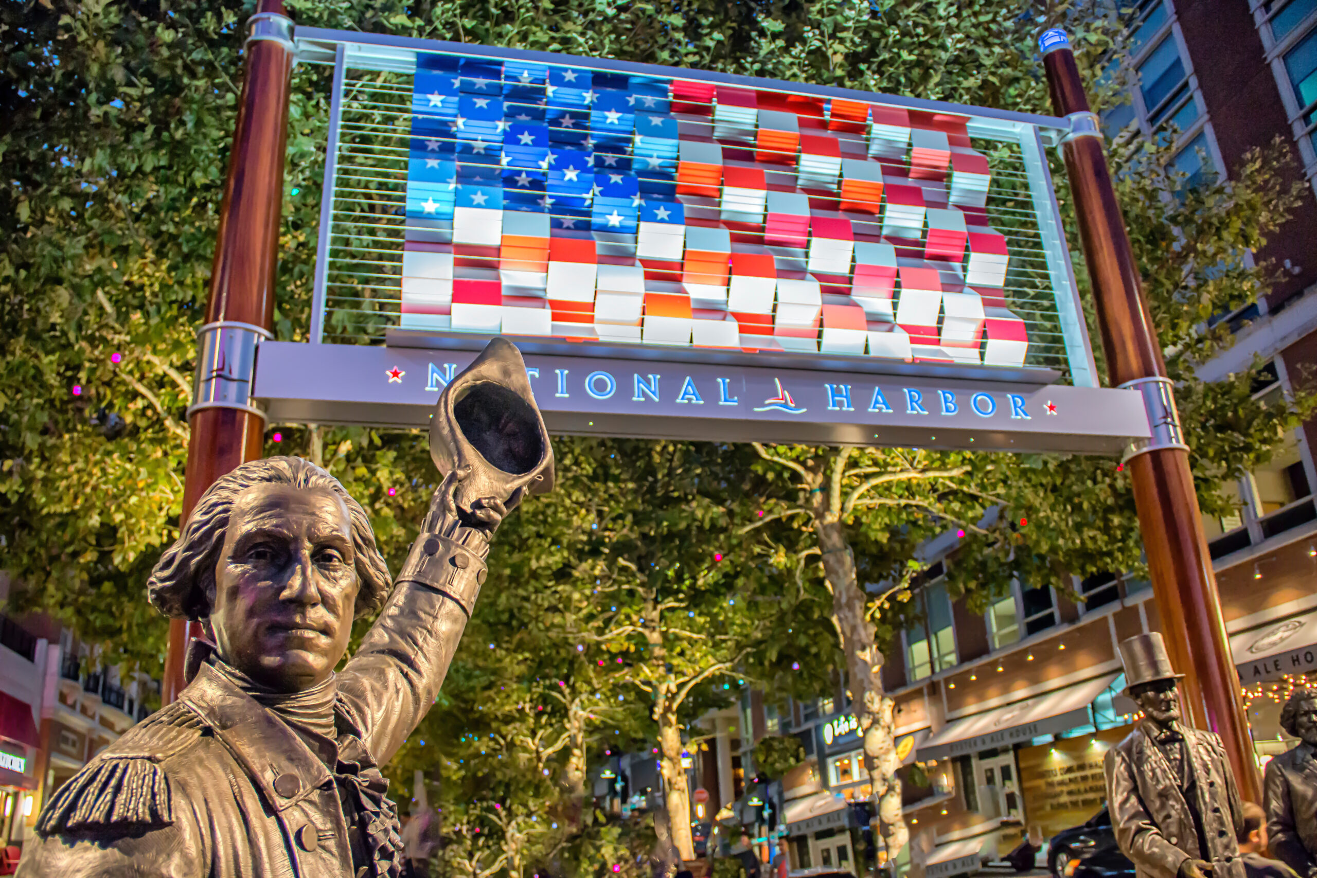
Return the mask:
[[366, 511], [348, 495], [335, 477], [300, 457], [266, 457], [242, 463], [207, 488], [191, 517], [151, 570], [146, 591], [151, 606], [171, 619], [207, 619], [215, 600], [215, 565], [224, 545], [233, 504], [255, 484], [290, 484], [298, 488], [328, 488], [348, 507], [352, 544], [357, 555], [357, 616], [379, 609], [392, 581], [389, 565], [375, 548], [375, 532]]

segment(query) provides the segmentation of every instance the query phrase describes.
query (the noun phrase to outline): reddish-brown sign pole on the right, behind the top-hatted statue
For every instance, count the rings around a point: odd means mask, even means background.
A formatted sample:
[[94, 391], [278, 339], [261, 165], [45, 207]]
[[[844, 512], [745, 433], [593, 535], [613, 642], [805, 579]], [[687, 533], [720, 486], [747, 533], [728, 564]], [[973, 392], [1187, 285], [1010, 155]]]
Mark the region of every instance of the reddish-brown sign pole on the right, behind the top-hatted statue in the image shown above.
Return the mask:
[[1115, 201], [1101, 128], [1089, 112], [1064, 32], [1048, 30], [1039, 45], [1052, 107], [1058, 116], [1071, 121], [1063, 151], [1084, 261], [1093, 278], [1110, 383], [1143, 394], [1152, 426], [1151, 441], [1131, 449], [1127, 466], [1162, 633], [1172, 663], [1185, 675], [1180, 698], [1193, 725], [1221, 736], [1241, 795], [1260, 803], [1258, 762], [1221, 617], [1217, 581], [1189, 471], [1189, 449], [1181, 436], [1130, 236]]

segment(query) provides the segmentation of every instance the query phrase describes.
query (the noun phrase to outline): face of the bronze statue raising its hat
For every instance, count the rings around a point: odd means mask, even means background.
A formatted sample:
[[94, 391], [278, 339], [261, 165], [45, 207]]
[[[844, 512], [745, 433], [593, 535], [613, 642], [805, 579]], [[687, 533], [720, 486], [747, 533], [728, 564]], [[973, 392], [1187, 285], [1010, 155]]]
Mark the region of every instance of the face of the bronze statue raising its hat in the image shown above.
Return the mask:
[[278, 691], [323, 683], [348, 649], [358, 588], [348, 508], [336, 494], [253, 486], [229, 513], [215, 567], [219, 653]]

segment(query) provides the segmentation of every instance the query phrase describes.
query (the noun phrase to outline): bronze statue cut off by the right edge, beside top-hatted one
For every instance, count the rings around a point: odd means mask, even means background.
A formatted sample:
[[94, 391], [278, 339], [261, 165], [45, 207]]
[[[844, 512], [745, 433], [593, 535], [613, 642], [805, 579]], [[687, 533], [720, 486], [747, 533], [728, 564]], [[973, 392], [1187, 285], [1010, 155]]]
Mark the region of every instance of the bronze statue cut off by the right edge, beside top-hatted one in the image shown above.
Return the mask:
[[1300, 878], [1317, 878], [1317, 690], [1296, 688], [1280, 728], [1299, 746], [1267, 763], [1264, 803], [1271, 850]]

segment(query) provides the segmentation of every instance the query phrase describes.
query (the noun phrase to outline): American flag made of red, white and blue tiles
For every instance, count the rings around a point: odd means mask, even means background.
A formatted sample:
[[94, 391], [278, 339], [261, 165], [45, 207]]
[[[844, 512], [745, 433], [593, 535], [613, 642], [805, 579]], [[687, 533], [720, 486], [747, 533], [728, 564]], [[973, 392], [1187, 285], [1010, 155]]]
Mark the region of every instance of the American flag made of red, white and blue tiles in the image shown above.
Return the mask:
[[1026, 363], [964, 116], [489, 57], [416, 65], [403, 329]]

